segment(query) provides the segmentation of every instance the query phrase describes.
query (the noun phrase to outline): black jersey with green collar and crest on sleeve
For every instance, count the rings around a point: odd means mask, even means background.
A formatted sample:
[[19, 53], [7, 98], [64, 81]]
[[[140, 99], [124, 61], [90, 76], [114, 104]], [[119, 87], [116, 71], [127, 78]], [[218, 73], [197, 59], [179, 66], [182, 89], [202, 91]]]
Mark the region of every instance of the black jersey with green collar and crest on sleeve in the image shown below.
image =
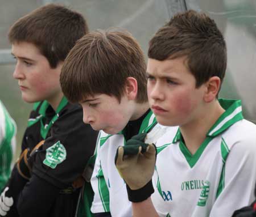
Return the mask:
[[42, 140], [44, 144], [34, 156], [29, 181], [14, 167], [5, 193], [14, 204], [6, 216], [74, 216], [80, 189], [72, 183], [93, 155], [97, 134], [82, 122], [80, 105], [68, 103], [65, 97], [56, 112], [47, 101], [35, 104], [22, 151], [32, 150]]

